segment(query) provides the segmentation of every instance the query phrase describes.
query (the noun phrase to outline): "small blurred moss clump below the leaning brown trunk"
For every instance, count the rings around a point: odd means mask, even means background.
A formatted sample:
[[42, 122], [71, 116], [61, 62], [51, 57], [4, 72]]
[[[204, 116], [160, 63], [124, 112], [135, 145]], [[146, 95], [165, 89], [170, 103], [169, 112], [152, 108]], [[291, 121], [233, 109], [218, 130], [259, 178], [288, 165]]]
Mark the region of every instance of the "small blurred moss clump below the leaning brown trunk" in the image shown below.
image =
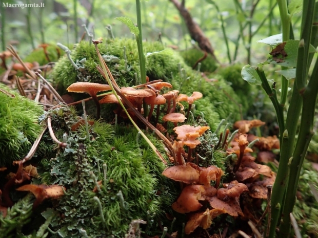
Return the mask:
[[[193, 67], [196, 61], [198, 59], [201, 59], [204, 56], [204, 53], [201, 50], [198, 50], [196, 48], [181, 51], [180, 54], [184, 58], [188, 66], [190, 67]], [[201, 72], [212, 73], [216, 70], [216, 68], [217, 68], [217, 63], [210, 54], [207, 56], [207, 58], [201, 61], [201, 67], [200, 67]]]

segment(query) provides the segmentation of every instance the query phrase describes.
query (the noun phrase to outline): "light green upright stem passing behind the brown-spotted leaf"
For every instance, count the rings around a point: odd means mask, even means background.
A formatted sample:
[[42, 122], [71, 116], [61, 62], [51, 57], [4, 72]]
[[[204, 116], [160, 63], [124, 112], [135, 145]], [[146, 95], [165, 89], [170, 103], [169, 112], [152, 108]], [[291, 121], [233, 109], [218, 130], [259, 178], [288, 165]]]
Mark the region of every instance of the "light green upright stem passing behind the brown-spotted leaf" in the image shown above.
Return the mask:
[[[277, 0], [279, 5], [281, 22], [282, 22], [282, 32], [283, 32], [283, 41], [289, 40], [290, 36], [290, 15], [288, 14], [287, 1], [286, 0]], [[282, 67], [282, 70], [288, 69], [287, 67]], [[282, 90], [281, 90], [281, 100], [280, 103], [282, 106], [285, 106], [287, 93], [288, 93], [288, 80], [282, 75], [281, 76]]]

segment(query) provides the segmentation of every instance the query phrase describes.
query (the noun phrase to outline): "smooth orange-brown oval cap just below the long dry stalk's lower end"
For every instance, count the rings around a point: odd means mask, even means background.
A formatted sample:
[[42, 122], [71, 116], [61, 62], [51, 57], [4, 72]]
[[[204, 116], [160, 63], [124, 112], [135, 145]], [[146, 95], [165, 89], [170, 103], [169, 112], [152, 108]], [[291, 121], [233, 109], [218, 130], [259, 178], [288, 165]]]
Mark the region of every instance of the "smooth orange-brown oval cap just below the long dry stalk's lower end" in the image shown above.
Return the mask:
[[187, 184], [197, 183], [199, 179], [198, 171], [190, 165], [178, 165], [166, 168], [162, 175], [169, 179]]

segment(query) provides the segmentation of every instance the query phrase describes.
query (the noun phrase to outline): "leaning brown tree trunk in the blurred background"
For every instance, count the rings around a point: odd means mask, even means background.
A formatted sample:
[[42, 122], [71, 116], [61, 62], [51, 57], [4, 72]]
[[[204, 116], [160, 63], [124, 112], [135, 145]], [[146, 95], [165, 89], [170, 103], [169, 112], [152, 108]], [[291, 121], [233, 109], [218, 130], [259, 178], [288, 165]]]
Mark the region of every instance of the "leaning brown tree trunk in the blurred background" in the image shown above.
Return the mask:
[[189, 11], [185, 8], [185, 1], [183, 1], [182, 3], [180, 3], [178, 0], [170, 1], [174, 4], [174, 6], [178, 9], [180, 14], [184, 18], [191, 38], [198, 43], [198, 46], [201, 48], [201, 50], [207, 52], [208, 54], [211, 54], [212, 57], [217, 62], [219, 62], [214, 55], [214, 50], [209, 39], [205, 36], [201, 28], [193, 20]]

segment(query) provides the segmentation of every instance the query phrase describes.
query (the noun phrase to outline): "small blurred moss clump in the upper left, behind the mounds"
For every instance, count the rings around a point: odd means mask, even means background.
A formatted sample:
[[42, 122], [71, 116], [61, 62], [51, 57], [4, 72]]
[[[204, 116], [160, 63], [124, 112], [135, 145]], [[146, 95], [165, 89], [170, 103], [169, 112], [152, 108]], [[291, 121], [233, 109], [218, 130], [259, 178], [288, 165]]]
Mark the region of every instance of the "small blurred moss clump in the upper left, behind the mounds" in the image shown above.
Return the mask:
[[43, 48], [38, 48], [33, 50], [25, 59], [25, 62], [38, 62], [40, 66], [44, 66], [45, 64], [49, 62], [56, 62], [58, 60], [58, 56], [63, 55], [64, 51], [61, 49], [56, 50], [56, 46], [48, 46], [46, 51], [49, 56], [50, 61], [47, 59]]

